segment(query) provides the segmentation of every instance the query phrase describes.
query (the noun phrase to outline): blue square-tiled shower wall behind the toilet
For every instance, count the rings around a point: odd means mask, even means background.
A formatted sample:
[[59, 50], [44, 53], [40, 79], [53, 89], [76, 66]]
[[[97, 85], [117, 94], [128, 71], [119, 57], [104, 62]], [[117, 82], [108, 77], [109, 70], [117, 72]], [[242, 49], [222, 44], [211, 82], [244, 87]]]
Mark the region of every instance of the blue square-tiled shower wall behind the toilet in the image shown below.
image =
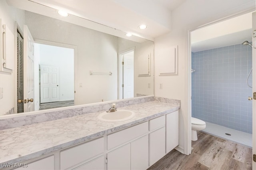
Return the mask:
[[192, 52], [191, 63], [192, 117], [252, 133], [252, 88], [246, 84], [252, 48], [237, 44]]

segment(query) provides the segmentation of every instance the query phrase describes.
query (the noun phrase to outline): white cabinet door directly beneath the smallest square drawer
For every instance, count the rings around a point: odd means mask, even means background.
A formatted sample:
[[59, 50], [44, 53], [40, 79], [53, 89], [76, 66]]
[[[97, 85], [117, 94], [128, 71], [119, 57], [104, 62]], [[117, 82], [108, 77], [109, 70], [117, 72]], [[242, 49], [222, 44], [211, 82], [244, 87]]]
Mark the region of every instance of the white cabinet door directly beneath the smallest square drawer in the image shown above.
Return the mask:
[[165, 127], [149, 134], [150, 166], [165, 155]]

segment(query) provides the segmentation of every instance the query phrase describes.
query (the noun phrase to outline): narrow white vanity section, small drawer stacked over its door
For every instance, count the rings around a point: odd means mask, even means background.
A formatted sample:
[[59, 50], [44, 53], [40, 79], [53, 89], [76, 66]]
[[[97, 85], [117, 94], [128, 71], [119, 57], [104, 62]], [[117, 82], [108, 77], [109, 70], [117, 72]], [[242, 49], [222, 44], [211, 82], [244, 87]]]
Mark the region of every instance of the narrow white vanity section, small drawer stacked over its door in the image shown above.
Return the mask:
[[150, 122], [149, 150], [150, 166], [165, 155], [165, 115]]

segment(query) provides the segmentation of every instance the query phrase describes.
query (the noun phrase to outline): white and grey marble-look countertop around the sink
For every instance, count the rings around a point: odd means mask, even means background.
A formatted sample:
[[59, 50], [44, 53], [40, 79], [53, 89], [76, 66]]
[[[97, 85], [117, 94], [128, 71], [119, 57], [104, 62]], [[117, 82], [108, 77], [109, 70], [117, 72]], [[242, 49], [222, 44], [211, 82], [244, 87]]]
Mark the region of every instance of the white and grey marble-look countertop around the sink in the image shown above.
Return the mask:
[[97, 116], [102, 113], [88, 113], [54, 121], [38, 123], [0, 131], [0, 163], [23, 162], [72, 145], [96, 139], [119, 129], [158, 117], [180, 106], [146, 102], [117, 109], [128, 109], [135, 116], [127, 121], [104, 122]]

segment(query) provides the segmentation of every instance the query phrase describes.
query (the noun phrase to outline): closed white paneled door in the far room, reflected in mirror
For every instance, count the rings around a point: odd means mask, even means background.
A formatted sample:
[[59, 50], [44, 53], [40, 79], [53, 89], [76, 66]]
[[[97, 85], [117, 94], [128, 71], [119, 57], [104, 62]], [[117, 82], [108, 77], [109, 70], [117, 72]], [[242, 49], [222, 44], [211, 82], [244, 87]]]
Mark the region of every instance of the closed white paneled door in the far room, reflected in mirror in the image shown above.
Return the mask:
[[40, 65], [40, 103], [59, 101], [59, 68]]

